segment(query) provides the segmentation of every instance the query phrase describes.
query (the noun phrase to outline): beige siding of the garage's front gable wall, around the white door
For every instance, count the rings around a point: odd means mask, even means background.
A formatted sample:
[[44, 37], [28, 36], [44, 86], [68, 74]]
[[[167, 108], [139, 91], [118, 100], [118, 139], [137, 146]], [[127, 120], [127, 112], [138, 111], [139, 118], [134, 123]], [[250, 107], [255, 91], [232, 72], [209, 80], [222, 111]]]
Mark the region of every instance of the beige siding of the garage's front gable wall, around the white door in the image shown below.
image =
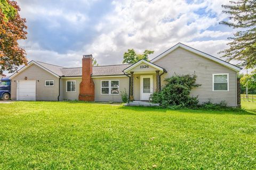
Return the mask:
[[[31, 64], [28, 68], [12, 78], [11, 99], [16, 100], [17, 80], [36, 80], [36, 100], [58, 100], [59, 95], [59, 78], [50, 74], [46, 70]], [[54, 80], [54, 86], [45, 86], [45, 80]]]

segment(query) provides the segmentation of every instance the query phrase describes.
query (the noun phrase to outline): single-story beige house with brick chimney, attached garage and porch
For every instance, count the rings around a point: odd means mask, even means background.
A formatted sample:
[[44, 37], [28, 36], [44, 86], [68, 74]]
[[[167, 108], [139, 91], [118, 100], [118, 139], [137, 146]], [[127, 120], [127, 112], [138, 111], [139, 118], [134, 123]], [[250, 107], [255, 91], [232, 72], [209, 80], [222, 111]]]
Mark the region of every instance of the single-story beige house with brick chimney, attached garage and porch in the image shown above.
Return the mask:
[[126, 91], [130, 100], [149, 100], [150, 94], [161, 91], [164, 79], [175, 74], [196, 74], [201, 84], [191, 91], [200, 103], [219, 103], [239, 106], [241, 68], [178, 43], [151, 61], [134, 64], [92, 66], [92, 55], [84, 55], [82, 67], [66, 68], [31, 61], [13, 74], [12, 100], [82, 100], [120, 102]]

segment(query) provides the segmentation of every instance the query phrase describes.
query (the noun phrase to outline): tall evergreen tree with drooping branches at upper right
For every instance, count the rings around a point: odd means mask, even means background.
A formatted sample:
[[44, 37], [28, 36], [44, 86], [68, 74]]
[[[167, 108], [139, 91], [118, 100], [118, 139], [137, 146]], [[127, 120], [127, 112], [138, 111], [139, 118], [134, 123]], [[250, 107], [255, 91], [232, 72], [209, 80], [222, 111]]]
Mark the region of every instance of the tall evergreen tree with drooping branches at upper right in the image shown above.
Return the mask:
[[230, 14], [230, 21], [220, 22], [223, 25], [238, 29], [227, 45], [230, 48], [221, 51], [227, 61], [238, 60], [239, 66], [245, 68], [256, 67], [256, 1], [239, 0], [230, 1], [231, 5], [222, 5]]

